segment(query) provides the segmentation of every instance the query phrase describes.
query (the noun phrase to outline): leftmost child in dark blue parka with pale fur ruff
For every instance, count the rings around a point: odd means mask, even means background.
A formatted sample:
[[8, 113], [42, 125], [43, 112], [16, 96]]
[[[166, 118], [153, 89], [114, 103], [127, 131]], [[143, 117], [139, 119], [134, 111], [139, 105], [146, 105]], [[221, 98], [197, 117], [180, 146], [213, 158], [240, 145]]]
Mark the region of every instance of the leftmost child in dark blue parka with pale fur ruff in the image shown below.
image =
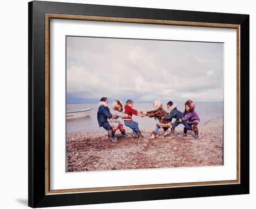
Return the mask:
[[108, 131], [108, 139], [111, 142], [116, 142], [117, 140], [113, 137], [112, 126], [108, 123], [108, 119], [115, 118], [109, 111], [108, 107], [108, 98], [102, 97], [100, 103], [97, 105], [97, 119], [99, 126], [103, 127], [106, 131]]

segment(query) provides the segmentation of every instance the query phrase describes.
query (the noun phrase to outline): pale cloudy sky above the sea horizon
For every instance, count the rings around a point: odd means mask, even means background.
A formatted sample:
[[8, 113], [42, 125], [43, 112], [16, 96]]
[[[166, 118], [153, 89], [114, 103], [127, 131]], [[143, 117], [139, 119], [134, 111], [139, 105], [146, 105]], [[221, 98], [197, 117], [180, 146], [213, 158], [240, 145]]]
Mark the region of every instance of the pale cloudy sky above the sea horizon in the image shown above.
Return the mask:
[[223, 44], [67, 36], [67, 103], [223, 100]]

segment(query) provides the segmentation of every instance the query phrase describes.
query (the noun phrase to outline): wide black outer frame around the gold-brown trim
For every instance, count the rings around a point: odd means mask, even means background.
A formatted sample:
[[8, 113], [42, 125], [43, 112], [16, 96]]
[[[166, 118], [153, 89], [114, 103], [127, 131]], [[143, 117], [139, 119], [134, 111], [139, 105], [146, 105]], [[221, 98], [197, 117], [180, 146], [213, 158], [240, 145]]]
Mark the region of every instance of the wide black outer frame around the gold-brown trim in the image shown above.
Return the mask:
[[249, 122], [240, 124], [240, 184], [45, 195], [45, 13], [238, 24], [240, 121], [249, 121], [249, 15], [32, 1], [28, 3], [28, 206], [249, 194]]

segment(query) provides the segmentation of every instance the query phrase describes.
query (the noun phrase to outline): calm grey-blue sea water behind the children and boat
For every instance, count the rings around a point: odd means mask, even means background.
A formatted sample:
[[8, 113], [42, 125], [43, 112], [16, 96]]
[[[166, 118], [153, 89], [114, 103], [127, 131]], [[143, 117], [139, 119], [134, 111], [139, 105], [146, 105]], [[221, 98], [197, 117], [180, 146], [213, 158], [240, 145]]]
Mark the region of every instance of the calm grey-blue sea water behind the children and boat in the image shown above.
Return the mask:
[[[112, 104], [108, 104], [111, 108]], [[184, 103], [176, 103], [177, 109], [179, 111], [184, 111]], [[135, 103], [133, 108], [138, 111], [150, 111], [153, 107], [153, 103]], [[167, 106], [163, 105], [164, 109], [167, 111]], [[67, 111], [77, 111], [82, 109], [93, 108], [91, 110], [90, 116], [87, 118], [80, 119], [69, 119], [67, 120], [67, 133], [80, 132], [80, 131], [102, 131], [102, 127], [99, 127], [97, 121], [97, 104], [67, 104]], [[222, 102], [197, 102], [195, 103], [195, 111], [200, 118], [200, 123], [198, 126], [203, 126], [210, 119], [223, 117], [223, 103]], [[121, 119], [121, 118], [119, 118]], [[149, 117], [137, 117], [133, 116], [133, 120], [139, 123], [139, 128], [141, 129], [155, 129], [155, 124], [158, 121], [155, 118]], [[175, 119], [172, 120], [174, 122]], [[125, 129], [129, 129], [124, 125]], [[177, 129], [183, 128], [180, 124]]]

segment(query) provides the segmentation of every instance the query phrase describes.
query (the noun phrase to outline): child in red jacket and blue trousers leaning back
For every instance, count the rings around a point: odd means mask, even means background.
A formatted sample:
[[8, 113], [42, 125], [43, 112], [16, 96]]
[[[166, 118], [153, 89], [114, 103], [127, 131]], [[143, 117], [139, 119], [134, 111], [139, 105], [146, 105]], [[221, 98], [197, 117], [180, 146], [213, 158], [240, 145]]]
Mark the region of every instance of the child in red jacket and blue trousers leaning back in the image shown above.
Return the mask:
[[138, 138], [138, 137], [143, 137], [142, 134], [141, 134], [141, 131], [139, 129], [139, 124], [135, 121], [133, 121], [132, 119], [132, 115], [136, 115], [136, 116], [141, 116], [141, 117], [144, 117], [145, 114], [143, 114], [143, 112], [139, 112], [135, 109], [132, 108], [133, 107], [133, 101], [131, 99], [128, 99], [127, 102], [126, 102], [126, 105], [124, 106], [124, 113], [128, 114], [128, 118], [123, 118], [124, 120], [124, 124], [126, 126], [128, 126], [129, 128], [131, 128], [134, 133], [136, 133], [135, 137]]

